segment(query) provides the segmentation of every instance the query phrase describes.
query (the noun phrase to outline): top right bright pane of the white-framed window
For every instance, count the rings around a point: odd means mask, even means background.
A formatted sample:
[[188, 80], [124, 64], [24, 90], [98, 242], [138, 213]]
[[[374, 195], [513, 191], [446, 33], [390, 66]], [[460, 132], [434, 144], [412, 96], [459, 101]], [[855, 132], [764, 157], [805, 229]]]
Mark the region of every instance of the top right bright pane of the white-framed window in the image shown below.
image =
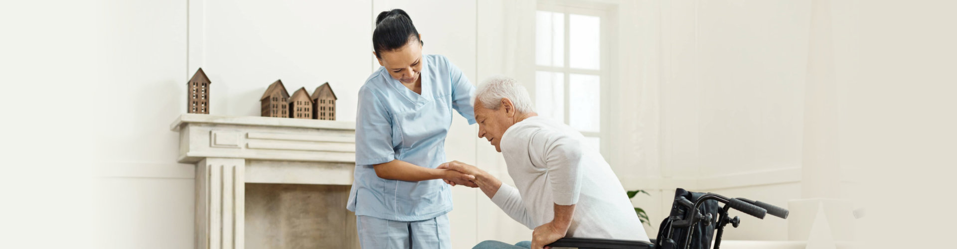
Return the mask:
[[598, 16], [568, 15], [568, 64], [573, 68], [598, 69], [601, 58], [601, 24]]

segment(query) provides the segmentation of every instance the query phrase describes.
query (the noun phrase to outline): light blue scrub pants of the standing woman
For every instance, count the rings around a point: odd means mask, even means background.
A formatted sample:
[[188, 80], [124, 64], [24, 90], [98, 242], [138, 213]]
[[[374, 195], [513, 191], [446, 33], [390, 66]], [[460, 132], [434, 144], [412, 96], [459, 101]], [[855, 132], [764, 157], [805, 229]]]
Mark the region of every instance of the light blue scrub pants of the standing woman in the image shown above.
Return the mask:
[[419, 221], [395, 221], [356, 216], [363, 249], [451, 249], [449, 216]]

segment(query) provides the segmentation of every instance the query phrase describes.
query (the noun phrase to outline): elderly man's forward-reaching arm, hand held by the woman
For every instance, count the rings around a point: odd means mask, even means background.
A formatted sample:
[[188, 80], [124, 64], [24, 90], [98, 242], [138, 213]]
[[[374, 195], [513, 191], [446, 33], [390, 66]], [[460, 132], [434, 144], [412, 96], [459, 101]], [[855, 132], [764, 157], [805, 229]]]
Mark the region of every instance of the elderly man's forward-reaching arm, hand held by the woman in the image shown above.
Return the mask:
[[506, 215], [512, 217], [515, 221], [519, 221], [519, 223], [522, 223], [528, 229], [535, 228], [531, 215], [528, 215], [528, 211], [525, 210], [525, 205], [522, 200], [522, 195], [519, 194], [519, 190], [507, 184], [501, 184], [498, 178], [495, 178], [495, 176], [492, 176], [485, 170], [479, 170], [479, 168], [475, 166], [458, 161], [442, 164], [438, 166], [438, 169], [456, 170], [474, 175], [476, 178], [472, 181], [479, 186], [479, 189], [485, 193], [485, 196], [488, 196], [496, 206], [499, 206], [501, 211], [504, 211]]

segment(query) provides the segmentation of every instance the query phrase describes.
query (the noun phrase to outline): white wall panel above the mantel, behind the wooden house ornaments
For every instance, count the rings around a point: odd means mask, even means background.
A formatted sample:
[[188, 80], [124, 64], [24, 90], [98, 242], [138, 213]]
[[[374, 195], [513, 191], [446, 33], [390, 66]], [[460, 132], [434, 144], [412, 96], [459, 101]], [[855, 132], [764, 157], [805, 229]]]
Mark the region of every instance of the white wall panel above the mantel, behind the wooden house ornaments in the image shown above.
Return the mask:
[[290, 92], [328, 81], [339, 97], [337, 118], [354, 120], [370, 73], [371, 21], [361, 18], [370, 8], [369, 1], [204, 0], [202, 16], [190, 19], [202, 22], [189, 25], [202, 30], [195, 37], [202, 48], [189, 57], [212, 80], [210, 114], [258, 116], [259, 96], [282, 79]]

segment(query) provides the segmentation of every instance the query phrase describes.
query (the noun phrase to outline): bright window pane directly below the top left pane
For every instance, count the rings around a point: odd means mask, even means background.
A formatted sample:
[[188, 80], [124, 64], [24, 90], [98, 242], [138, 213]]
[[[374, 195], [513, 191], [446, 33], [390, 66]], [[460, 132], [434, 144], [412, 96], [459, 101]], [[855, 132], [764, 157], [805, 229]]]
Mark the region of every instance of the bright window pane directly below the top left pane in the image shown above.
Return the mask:
[[565, 75], [535, 72], [535, 111], [539, 115], [565, 123]]

